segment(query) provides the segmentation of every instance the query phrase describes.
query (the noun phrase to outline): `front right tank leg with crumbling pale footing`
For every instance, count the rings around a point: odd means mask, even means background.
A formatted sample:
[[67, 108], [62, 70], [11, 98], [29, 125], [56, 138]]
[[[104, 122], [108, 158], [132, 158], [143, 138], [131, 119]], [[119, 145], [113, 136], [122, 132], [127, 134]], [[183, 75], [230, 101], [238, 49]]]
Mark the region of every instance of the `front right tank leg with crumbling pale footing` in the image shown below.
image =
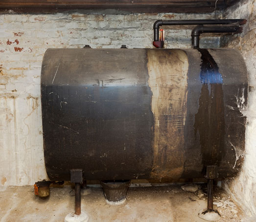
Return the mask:
[[206, 176], [208, 179], [207, 184], [207, 208], [202, 209], [198, 212], [198, 217], [206, 221], [217, 221], [220, 219], [221, 215], [217, 210], [213, 209], [213, 179], [218, 178], [218, 167], [217, 166], [207, 166]]

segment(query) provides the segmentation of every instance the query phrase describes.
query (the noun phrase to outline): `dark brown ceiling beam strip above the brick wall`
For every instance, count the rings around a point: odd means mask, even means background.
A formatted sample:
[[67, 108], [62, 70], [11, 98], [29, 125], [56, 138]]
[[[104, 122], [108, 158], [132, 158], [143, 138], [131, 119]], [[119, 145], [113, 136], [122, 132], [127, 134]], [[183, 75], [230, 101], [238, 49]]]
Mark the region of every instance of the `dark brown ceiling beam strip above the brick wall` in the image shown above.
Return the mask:
[[[239, 0], [217, 0], [225, 9]], [[117, 9], [130, 12], [212, 12], [216, 0], [0, 0], [0, 12], [52, 13], [77, 9]]]

